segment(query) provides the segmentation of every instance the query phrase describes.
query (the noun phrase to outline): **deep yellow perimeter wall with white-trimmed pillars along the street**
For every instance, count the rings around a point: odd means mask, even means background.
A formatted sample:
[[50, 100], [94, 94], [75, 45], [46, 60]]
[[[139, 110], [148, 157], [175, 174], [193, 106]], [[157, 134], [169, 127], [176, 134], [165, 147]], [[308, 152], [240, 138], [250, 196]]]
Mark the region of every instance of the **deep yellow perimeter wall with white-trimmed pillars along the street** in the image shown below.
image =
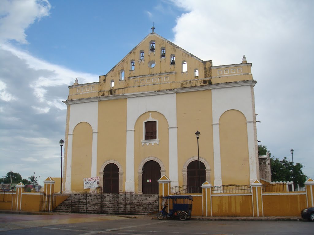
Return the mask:
[[[160, 189], [169, 190], [169, 180], [163, 176]], [[206, 194], [193, 194], [193, 216], [299, 216], [306, 207], [313, 206], [314, 185], [312, 181], [306, 185], [306, 192], [265, 192], [261, 186], [252, 186], [252, 193], [213, 193], [212, 186], [207, 183]], [[205, 184], [204, 183], [204, 184]], [[165, 184], [162, 187], [162, 184]], [[203, 187], [203, 186], [202, 186]], [[19, 191], [19, 192], [18, 192]], [[19, 197], [18, 197], [19, 195]], [[22, 196], [22, 197], [21, 197]], [[66, 200], [69, 195], [56, 196], [56, 204]], [[12, 193], [0, 193], [0, 210], [40, 211], [40, 193], [20, 193], [20, 189]], [[52, 197], [52, 195], [50, 195]], [[43, 200], [49, 201], [49, 200]], [[207, 205], [207, 208], [204, 209]], [[53, 206], [53, 205], [52, 205]], [[54, 208], [52, 208], [54, 209]]]

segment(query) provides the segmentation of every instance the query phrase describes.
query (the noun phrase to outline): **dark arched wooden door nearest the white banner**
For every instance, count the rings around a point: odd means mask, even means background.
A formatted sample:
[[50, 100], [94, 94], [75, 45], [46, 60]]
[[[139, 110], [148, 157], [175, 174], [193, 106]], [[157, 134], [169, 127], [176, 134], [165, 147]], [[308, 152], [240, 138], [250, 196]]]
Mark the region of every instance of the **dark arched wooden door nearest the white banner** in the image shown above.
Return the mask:
[[104, 169], [104, 193], [119, 192], [119, 168], [116, 164], [110, 163]]

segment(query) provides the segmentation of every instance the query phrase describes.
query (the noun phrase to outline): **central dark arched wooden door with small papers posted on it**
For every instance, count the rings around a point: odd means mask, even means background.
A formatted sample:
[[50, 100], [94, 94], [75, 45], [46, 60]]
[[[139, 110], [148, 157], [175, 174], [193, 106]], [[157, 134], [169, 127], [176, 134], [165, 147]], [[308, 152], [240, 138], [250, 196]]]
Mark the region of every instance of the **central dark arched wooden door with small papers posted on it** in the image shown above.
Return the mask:
[[160, 165], [155, 161], [148, 161], [143, 166], [143, 193], [158, 194], [158, 182], [160, 179]]

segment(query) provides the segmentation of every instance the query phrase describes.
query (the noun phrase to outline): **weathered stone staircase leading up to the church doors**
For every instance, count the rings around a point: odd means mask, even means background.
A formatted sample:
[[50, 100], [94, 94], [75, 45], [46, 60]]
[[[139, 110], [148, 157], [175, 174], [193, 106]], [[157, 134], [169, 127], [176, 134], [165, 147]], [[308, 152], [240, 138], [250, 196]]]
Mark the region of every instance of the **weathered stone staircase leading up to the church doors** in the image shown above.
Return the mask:
[[[74, 211], [78, 213], [149, 215], [158, 211], [158, 197], [158, 194], [135, 194], [134, 203], [133, 200], [132, 203], [121, 203], [118, 205], [118, 213], [116, 213], [117, 205], [115, 202], [112, 202], [112, 200], [110, 201], [110, 198], [112, 198], [112, 195], [110, 194], [100, 194], [91, 197], [88, 201], [84, 201], [83, 206], [81, 207], [89, 208], [88, 211], [81, 208], [79, 206], [80, 203], [76, 201], [77, 199], [71, 195], [57, 206], [54, 212], [71, 213], [71, 208], [73, 206]], [[116, 201], [116, 199], [114, 198], [113, 201]], [[103, 205], [100, 205], [99, 203], [102, 203]]]

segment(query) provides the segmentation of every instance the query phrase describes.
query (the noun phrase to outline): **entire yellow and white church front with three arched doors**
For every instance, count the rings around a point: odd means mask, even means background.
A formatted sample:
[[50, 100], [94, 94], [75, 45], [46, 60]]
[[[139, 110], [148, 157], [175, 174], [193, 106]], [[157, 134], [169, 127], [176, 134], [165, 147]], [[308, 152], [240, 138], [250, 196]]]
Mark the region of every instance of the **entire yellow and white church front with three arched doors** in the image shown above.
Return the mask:
[[239, 62], [213, 66], [153, 32], [99, 81], [76, 80], [64, 101], [63, 191], [97, 176], [104, 192], [138, 194], [158, 193], [163, 175], [191, 189], [259, 180], [256, 81]]

